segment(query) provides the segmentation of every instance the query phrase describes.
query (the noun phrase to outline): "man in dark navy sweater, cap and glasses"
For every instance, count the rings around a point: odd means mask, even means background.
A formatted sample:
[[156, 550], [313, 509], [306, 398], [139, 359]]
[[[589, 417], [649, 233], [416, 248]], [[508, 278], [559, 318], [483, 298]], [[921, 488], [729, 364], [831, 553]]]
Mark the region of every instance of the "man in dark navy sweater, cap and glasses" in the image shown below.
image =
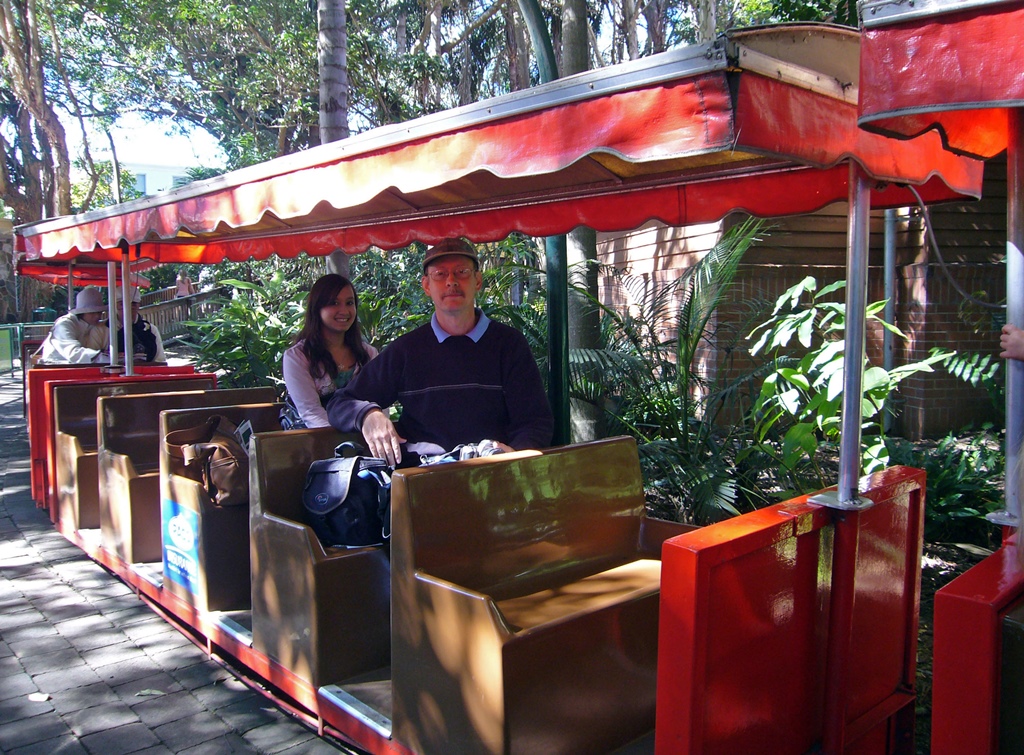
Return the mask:
[[[505, 451], [551, 444], [554, 420], [526, 339], [476, 308], [482, 278], [476, 250], [445, 239], [427, 251], [428, 325], [397, 338], [328, 404], [331, 424], [361, 431], [370, 453], [401, 461], [460, 444], [496, 441]], [[385, 409], [401, 405], [396, 423]]]

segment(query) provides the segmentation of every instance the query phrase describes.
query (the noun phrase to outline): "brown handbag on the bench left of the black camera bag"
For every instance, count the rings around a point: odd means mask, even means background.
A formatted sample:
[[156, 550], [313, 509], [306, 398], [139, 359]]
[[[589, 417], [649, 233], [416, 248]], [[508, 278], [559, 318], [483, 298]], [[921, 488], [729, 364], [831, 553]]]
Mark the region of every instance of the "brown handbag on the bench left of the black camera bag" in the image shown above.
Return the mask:
[[219, 414], [196, 427], [168, 432], [167, 453], [183, 462], [184, 475], [206, 488], [218, 506], [249, 504], [249, 452], [236, 427]]

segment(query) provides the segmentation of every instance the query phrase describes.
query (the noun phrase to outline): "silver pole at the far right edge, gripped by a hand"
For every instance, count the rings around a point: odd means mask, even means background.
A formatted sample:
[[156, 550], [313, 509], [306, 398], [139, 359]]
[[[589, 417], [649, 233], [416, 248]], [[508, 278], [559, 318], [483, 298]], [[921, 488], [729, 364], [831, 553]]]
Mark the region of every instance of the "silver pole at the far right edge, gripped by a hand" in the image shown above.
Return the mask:
[[[1024, 328], [1024, 110], [1007, 111], [1007, 323]], [[1021, 523], [1020, 464], [1024, 439], [1024, 362], [1007, 360], [1006, 508], [997, 525]]]

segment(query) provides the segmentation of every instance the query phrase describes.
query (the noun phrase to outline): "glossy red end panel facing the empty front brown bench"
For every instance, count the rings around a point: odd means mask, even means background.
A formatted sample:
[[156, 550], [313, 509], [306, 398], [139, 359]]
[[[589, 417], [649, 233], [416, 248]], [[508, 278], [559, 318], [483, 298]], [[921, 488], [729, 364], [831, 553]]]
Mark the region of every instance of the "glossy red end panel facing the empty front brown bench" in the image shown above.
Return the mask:
[[666, 542], [657, 752], [913, 752], [925, 474], [865, 483]]

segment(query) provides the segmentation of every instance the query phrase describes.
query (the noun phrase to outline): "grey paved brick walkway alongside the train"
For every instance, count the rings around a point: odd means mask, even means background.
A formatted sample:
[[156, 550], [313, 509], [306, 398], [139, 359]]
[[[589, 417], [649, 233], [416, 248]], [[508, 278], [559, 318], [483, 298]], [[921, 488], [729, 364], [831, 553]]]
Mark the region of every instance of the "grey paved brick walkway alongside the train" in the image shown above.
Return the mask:
[[[348, 752], [347, 750], [340, 750]], [[53, 529], [0, 375], [0, 753], [337, 753]]]

